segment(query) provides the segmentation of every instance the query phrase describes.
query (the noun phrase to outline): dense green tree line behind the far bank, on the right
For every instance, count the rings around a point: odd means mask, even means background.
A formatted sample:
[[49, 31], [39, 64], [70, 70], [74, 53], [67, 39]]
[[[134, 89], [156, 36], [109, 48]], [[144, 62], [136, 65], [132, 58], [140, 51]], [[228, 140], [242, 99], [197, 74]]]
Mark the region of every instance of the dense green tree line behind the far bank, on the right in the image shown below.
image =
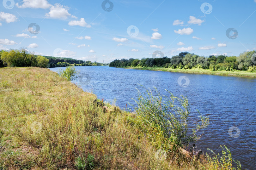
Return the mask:
[[241, 53], [239, 56], [210, 55], [209, 57], [199, 56], [188, 52], [181, 52], [172, 58], [142, 58], [142, 59], [115, 59], [110, 67], [160, 67], [192, 69], [202, 68], [212, 71], [256, 71], [256, 66], [252, 61], [256, 51]]

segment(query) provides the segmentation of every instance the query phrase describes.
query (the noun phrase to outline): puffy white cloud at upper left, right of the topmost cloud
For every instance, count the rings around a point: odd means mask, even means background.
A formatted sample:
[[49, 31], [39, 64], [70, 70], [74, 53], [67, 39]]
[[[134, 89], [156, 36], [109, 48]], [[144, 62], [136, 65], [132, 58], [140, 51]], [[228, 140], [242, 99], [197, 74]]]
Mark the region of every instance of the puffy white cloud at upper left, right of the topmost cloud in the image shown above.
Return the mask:
[[50, 12], [46, 13], [45, 16], [48, 18], [64, 18], [66, 19], [71, 14], [68, 12], [68, 7], [63, 6], [59, 3], [55, 3], [51, 6]]

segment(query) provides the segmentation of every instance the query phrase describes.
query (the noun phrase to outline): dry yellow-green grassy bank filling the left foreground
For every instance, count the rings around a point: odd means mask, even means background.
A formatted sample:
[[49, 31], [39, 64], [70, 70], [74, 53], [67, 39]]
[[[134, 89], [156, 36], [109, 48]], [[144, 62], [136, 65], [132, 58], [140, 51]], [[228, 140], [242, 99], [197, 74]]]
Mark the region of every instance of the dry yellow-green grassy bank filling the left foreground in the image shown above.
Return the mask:
[[48, 69], [1, 68], [0, 169], [221, 167], [222, 160], [181, 150], [159, 156], [156, 141], [148, 140], [157, 136], [138, 133], [129, 123], [136, 115], [95, 99]]

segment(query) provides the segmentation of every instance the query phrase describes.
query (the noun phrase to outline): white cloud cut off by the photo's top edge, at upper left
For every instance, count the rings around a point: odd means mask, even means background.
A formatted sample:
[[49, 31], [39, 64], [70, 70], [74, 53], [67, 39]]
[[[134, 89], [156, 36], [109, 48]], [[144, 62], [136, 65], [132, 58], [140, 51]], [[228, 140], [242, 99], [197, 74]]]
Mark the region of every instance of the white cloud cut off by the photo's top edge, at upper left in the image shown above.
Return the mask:
[[23, 4], [19, 6], [19, 3], [16, 3], [18, 8], [42, 8], [47, 9], [51, 7], [51, 4], [47, 0], [23, 0]]

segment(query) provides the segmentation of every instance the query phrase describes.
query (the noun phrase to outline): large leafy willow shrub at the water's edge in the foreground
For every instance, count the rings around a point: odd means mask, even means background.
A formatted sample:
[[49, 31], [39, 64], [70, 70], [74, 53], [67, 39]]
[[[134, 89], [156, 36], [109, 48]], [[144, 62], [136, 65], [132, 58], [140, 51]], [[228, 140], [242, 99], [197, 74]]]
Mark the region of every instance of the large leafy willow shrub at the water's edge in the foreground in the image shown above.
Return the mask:
[[[156, 89], [155, 89], [156, 90]], [[200, 137], [198, 131], [209, 125], [209, 118], [200, 115], [200, 121], [194, 124], [189, 119], [190, 108], [188, 100], [175, 97], [172, 93], [168, 96], [161, 95], [156, 90], [153, 95], [151, 90], [141, 94], [138, 90], [136, 115], [129, 119], [141, 137], [146, 137], [156, 149], [175, 151], [191, 142], [197, 142]], [[200, 113], [199, 113], [200, 114]], [[188, 135], [188, 126], [192, 135]]]

